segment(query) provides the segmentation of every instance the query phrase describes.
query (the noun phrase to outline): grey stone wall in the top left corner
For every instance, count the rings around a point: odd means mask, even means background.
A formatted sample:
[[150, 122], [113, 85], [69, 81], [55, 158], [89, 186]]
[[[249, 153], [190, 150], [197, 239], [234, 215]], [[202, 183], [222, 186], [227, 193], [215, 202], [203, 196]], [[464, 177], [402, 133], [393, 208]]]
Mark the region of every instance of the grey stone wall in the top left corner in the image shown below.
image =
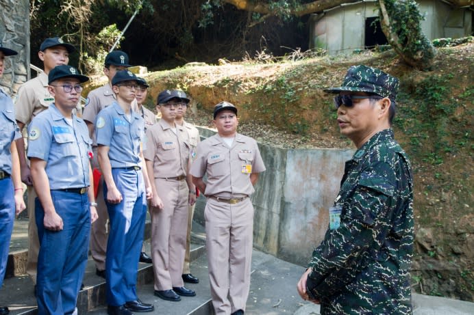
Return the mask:
[[18, 51], [18, 55], [5, 58], [5, 71], [0, 87], [14, 95], [28, 79], [29, 65], [29, 1], [0, 0], [0, 42]]

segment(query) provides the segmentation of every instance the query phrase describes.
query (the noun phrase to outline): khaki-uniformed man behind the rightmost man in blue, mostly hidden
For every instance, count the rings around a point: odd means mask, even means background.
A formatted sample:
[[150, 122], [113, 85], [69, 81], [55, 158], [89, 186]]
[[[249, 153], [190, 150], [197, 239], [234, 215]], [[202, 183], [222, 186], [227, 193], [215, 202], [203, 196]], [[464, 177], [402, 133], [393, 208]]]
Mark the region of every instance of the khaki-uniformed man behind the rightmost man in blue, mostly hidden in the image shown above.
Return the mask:
[[[92, 145], [92, 151], [94, 153], [92, 167], [95, 169], [99, 169], [99, 162], [97, 161], [97, 142], [94, 130], [95, 118], [102, 109], [108, 107], [116, 100], [116, 96], [114, 92], [112, 92], [112, 78], [116, 72], [125, 70], [128, 67], [130, 67], [130, 65], [127, 53], [124, 53], [123, 51], [112, 51], [108, 53], [108, 55], [105, 56], [105, 65], [103, 68], [103, 74], [108, 78], [108, 83], [90, 91], [86, 99], [86, 107], [84, 107], [82, 118], [89, 128], [90, 138], [94, 141]], [[136, 100], [132, 102], [132, 107], [136, 108]], [[90, 233], [90, 252], [95, 261], [95, 273], [99, 275], [99, 277], [105, 279], [105, 252], [107, 251], [107, 239], [109, 235], [107, 223], [109, 216], [103, 198], [103, 178], [101, 177], [99, 182], [96, 184], [96, 199], [98, 204], [97, 214], [99, 215], [99, 219], [92, 224]]]

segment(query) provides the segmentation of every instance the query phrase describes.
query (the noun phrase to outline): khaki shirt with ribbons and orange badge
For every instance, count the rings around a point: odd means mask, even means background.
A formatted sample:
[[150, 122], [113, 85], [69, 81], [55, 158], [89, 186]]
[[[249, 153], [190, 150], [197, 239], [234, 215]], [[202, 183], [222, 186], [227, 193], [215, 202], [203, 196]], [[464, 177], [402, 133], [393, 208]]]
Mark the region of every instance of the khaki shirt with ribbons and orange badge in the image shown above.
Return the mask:
[[[251, 165], [251, 169], [248, 165]], [[199, 143], [190, 173], [198, 178], [208, 174], [205, 195], [238, 198], [255, 191], [250, 173], [261, 173], [264, 170], [257, 141], [237, 133], [232, 148], [218, 134]]]

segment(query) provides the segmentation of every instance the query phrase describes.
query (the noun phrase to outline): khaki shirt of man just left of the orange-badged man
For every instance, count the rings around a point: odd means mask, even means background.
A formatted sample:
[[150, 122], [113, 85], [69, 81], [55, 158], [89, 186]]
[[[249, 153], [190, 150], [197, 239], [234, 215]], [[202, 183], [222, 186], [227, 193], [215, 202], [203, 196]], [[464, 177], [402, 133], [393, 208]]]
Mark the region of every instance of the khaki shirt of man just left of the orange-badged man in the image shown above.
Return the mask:
[[190, 158], [188, 133], [183, 126], [176, 126], [177, 135], [164, 120], [147, 130], [144, 146], [145, 160], [153, 161], [155, 178], [186, 176]]

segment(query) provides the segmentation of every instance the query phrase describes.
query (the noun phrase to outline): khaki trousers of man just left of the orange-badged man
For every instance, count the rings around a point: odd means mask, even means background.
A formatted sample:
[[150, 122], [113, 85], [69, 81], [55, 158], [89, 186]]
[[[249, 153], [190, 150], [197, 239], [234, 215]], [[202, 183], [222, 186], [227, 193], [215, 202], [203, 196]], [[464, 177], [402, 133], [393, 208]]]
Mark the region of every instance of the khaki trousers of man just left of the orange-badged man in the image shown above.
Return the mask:
[[189, 190], [186, 180], [155, 178], [155, 187], [164, 208], [151, 208], [151, 256], [155, 290], [162, 291], [184, 286]]

